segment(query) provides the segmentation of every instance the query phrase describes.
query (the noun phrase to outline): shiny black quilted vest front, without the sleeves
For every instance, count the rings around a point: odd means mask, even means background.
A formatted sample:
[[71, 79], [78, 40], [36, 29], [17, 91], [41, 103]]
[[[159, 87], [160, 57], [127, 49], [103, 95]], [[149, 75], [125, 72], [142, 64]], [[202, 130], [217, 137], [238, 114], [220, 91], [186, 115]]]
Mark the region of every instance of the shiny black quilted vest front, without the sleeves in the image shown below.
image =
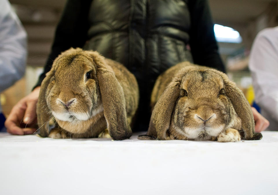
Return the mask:
[[124, 64], [150, 93], [160, 73], [193, 61], [189, 29], [187, 1], [93, 0], [84, 48]]

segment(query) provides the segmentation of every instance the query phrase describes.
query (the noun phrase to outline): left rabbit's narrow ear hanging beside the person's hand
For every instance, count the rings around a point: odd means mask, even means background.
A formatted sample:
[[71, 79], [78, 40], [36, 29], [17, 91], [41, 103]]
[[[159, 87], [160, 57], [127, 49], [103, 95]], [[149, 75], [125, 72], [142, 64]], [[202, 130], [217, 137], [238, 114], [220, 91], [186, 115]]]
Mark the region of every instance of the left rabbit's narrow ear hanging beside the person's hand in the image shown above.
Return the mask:
[[47, 86], [50, 84], [51, 78], [53, 76], [54, 76], [54, 68], [52, 67], [51, 70], [46, 73], [46, 76], [43, 79], [43, 82], [41, 83], [41, 89], [40, 89], [39, 99], [36, 108], [37, 121], [40, 130], [39, 135], [41, 137], [47, 137], [49, 135], [48, 124], [52, 116], [51, 116], [51, 111], [49, 110], [46, 103], [45, 93], [47, 90]]

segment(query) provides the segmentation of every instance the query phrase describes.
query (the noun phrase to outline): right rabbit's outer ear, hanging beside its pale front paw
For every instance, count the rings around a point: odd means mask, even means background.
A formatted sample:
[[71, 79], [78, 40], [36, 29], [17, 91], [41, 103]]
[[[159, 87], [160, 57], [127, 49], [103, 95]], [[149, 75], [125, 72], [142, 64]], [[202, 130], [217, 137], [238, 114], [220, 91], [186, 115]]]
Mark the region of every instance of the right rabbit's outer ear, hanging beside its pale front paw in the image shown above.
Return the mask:
[[228, 76], [221, 73], [225, 84], [225, 93], [233, 104], [235, 112], [242, 121], [242, 131], [246, 140], [260, 140], [261, 133], [255, 133], [255, 123], [253, 113], [249, 102], [246, 100], [243, 92], [237, 88], [234, 82], [230, 81]]

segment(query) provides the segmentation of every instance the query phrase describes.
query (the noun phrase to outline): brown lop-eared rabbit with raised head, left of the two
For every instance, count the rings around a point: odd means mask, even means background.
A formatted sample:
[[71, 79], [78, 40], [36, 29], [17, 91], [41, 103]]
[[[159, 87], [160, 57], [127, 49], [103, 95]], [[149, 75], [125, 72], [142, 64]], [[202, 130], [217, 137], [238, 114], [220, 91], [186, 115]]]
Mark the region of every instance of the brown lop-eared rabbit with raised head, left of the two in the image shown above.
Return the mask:
[[114, 140], [129, 138], [138, 101], [136, 78], [123, 65], [96, 51], [71, 48], [54, 60], [42, 82], [40, 136], [98, 137], [107, 128]]

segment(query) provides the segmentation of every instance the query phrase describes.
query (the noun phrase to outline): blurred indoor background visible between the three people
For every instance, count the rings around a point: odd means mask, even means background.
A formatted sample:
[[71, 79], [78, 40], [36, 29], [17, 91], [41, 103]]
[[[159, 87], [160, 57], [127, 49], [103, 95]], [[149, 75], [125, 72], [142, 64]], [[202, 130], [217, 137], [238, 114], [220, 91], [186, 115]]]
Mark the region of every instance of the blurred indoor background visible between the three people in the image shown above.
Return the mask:
[[[10, 0], [28, 33], [28, 58], [24, 78], [0, 95], [7, 116], [30, 93], [50, 52], [56, 25], [66, 0]], [[278, 25], [277, 0], [209, 0], [215, 35], [228, 76], [251, 103], [254, 100], [248, 70], [249, 52], [257, 33]]]

